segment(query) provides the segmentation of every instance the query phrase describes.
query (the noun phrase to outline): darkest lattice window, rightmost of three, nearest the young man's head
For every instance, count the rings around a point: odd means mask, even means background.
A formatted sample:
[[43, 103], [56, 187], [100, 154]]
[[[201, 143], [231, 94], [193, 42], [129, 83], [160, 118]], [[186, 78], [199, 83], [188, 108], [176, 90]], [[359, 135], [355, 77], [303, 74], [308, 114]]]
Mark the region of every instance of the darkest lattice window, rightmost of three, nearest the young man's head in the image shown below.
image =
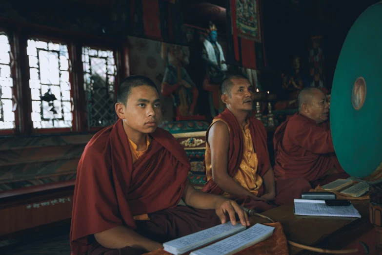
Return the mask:
[[83, 82], [86, 96], [86, 119], [89, 128], [112, 125], [115, 112], [114, 52], [82, 47]]

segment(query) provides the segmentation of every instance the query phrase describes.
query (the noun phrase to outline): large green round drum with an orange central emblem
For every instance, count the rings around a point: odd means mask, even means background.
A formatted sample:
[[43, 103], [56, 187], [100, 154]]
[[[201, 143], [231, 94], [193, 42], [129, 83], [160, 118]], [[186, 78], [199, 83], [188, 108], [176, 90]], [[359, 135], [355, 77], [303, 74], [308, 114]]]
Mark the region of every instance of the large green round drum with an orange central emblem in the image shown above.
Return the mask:
[[346, 36], [330, 102], [342, 168], [368, 183], [382, 182], [382, 2], [367, 8]]

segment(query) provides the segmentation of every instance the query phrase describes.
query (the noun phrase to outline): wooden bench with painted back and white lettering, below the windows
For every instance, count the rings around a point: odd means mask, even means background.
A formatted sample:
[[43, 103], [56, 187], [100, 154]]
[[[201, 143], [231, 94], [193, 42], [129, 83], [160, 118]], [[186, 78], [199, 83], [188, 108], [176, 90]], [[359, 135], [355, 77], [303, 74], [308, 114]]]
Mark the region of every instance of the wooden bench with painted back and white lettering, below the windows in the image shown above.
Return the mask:
[[0, 138], [0, 238], [70, 221], [84, 135]]

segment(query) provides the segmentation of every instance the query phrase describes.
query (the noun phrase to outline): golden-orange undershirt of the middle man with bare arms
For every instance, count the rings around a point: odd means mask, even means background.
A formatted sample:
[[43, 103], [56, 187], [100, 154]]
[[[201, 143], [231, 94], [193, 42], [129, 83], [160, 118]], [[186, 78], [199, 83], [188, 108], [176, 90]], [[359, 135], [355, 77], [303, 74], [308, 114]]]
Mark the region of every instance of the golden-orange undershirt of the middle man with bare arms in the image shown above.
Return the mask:
[[[212, 121], [213, 125], [217, 121], [222, 121], [221, 119], [214, 119]], [[229, 132], [231, 132], [228, 124], [224, 122]], [[249, 122], [247, 121], [247, 124], [244, 126], [243, 132], [243, 139], [244, 139], [244, 148], [243, 148], [243, 158], [240, 163], [240, 167], [238, 172], [235, 174], [233, 179], [240, 183], [240, 185], [245, 188], [247, 191], [250, 191], [251, 193], [257, 195], [259, 192], [259, 189], [262, 185], [262, 178], [257, 173], [257, 166], [258, 166], [258, 159], [257, 155], [255, 153], [255, 150], [253, 148], [253, 142], [249, 130]], [[206, 144], [206, 150], [205, 150], [205, 166], [206, 166], [206, 175], [207, 175], [207, 181], [212, 178], [212, 161], [211, 161], [211, 149], [208, 143]], [[222, 194], [223, 196], [229, 196], [227, 192], [224, 191]]]

